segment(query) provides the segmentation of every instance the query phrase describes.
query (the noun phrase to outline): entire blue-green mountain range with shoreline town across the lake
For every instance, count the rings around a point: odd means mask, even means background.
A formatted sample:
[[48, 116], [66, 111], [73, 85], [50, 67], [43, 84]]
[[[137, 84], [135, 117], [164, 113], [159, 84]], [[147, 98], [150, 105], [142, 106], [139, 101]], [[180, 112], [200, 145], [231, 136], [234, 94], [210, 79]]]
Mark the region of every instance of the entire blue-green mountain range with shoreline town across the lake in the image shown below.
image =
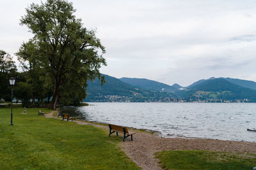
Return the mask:
[[110, 102], [256, 102], [256, 82], [237, 78], [198, 80], [188, 87], [172, 86], [145, 78], [114, 78], [88, 82], [85, 101]]

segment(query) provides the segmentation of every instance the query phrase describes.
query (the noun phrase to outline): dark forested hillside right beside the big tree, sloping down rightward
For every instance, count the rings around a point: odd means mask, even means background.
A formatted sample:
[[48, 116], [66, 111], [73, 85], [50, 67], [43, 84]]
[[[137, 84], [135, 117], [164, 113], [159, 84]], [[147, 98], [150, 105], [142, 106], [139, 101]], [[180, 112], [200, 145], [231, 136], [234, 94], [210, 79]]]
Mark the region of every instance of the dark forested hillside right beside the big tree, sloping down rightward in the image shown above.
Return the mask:
[[99, 80], [88, 81], [87, 97], [84, 101], [100, 102], [164, 102], [174, 97], [169, 92], [133, 87], [115, 77], [105, 76], [104, 85]]

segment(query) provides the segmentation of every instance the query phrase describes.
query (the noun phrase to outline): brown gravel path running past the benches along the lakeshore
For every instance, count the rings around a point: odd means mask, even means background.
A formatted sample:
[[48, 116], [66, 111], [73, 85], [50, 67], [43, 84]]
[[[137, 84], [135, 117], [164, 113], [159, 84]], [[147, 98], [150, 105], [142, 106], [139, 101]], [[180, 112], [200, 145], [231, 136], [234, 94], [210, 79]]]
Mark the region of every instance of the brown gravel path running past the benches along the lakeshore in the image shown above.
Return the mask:
[[[52, 116], [53, 113], [54, 111], [51, 111], [45, 117], [57, 118]], [[81, 125], [94, 125], [108, 130], [108, 126], [104, 125], [80, 120], [74, 120], [74, 122]], [[210, 150], [256, 154], [256, 143], [251, 142], [221, 141], [218, 139], [161, 138], [148, 132], [136, 130], [131, 130], [131, 132], [136, 132], [133, 135], [133, 141], [131, 141], [131, 138], [125, 139], [125, 142], [120, 143], [120, 148], [142, 169], [161, 169], [158, 160], [154, 158], [154, 154], [163, 150]]]

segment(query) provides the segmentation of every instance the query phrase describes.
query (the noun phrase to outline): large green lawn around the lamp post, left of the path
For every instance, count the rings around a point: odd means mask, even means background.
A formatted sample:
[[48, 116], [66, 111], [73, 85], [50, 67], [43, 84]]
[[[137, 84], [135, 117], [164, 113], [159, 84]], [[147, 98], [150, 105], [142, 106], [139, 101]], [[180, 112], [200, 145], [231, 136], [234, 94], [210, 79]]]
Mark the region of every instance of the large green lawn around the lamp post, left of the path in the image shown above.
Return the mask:
[[92, 125], [38, 116], [44, 108], [0, 108], [0, 169], [139, 169], [118, 148], [120, 138]]

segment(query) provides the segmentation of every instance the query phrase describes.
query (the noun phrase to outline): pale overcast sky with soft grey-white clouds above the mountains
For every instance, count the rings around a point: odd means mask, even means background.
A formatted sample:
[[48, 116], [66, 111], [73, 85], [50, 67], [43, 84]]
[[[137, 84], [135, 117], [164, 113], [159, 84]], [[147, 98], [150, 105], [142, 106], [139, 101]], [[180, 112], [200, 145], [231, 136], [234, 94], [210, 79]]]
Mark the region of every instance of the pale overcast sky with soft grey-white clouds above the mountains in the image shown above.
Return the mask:
[[[71, 2], [106, 47], [101, 73], [182, 86], [213, 76], [256, 81], [255, 0]], [[17, 66], [15, 53], [33, 37], [19, 25], [31, 3], [41, 1], [0, 0], [0, 49]]]

